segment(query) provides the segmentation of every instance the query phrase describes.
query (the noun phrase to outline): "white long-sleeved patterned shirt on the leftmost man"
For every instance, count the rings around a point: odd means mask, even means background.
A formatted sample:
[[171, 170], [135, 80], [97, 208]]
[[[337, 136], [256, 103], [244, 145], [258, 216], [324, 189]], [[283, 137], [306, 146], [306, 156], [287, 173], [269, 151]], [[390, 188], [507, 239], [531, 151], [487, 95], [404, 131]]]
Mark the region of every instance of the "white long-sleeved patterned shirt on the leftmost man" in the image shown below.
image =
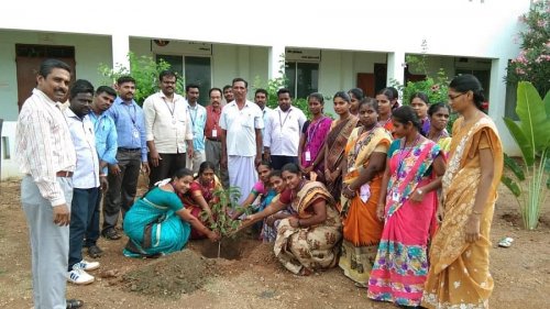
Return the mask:
[[15, 159], [20, 170], [32, 176], [52, 207], [66, 203], [56, 173], [75, 169], [75, 147], [61, 103], [38, 89], [33, 89], [19, 113]]

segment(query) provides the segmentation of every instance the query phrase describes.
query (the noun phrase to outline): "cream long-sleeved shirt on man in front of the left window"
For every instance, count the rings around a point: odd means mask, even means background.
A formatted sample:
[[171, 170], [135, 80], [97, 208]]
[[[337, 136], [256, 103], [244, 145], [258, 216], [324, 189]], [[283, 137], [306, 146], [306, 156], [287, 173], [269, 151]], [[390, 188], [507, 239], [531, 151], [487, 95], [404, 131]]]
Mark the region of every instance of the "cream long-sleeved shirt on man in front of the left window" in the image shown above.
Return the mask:
[[146, 140], [154, 141], [161, 154], [185, 153], [186, 140], [193, 140], [188, 103], [174, 93], [170, 102], [163, 91], [148, 96], [143, 102]]

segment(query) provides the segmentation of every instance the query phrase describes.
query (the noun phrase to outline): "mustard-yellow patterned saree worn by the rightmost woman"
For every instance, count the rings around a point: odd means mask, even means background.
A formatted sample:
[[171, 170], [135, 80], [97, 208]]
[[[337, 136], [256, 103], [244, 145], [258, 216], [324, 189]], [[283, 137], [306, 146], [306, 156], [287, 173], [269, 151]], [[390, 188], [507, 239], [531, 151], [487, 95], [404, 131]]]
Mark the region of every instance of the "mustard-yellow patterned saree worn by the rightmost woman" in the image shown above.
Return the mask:
[[[488, 308], [493, 291], [490, 231], [503, 172], [503, 150], [495, 124], [486, 115], [469, 126], [461, 128], [462, 123], [462, 118], [454, 123], [442, 180], [444, 218], [430, 249], [431, 266], [422, 301], [427, 308]], [[486, 146], [493, 153], [494, 178], [480, 218], [480, 240], [466, 243], [464, 229], [481, 177], [479, 150]]]

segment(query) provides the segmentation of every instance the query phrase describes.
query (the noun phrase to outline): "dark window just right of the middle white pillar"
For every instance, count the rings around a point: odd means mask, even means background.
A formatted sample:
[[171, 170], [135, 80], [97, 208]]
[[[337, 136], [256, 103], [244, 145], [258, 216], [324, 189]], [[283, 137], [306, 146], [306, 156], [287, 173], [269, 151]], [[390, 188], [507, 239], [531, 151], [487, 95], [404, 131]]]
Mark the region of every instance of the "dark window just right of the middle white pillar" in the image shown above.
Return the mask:
[[305, 99], [319, 89], [319, 64], [287, 62], [285, 75], [288, 90], [296, 99]]

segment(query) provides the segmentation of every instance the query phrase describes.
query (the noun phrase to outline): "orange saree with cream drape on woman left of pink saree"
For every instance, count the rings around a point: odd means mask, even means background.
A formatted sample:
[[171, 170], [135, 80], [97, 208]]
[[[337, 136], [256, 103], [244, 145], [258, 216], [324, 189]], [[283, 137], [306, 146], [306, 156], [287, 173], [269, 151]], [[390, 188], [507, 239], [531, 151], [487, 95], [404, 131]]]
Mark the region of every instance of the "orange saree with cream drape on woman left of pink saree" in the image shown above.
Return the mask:
[[[375, 151], [387, 153], [392, 141], [392, 136], [383, 128], [362, 132], [361, 135], [360, 130], [361, 128], [353, 130], [345, 146], [348, 172], [343, 178], [344, 184], [351, 184], [359, 177]], [[351, 200], [344, 196], [340, 199], [343, 242], [339, 266], [350, 279], [364, 285], [369, 280], [384, 228], [376, 216], [383, 173], [376, 174], [371, 181], [358, 189]], [[362, 194], [370, 196], [362, 197]]]

